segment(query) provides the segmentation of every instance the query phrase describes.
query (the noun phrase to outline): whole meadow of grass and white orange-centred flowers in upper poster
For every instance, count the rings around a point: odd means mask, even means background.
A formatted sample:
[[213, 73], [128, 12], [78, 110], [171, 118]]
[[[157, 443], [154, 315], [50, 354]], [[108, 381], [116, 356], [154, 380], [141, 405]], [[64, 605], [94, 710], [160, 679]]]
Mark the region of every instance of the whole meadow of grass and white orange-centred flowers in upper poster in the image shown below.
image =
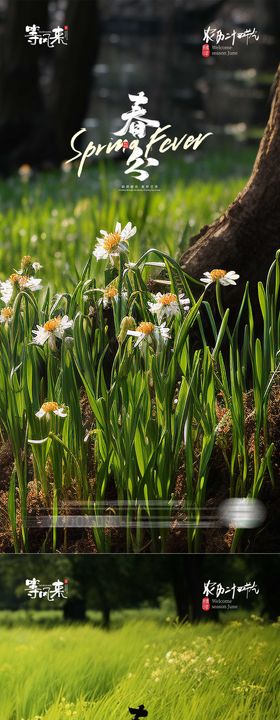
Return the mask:
[[[279, 257], [259, 283], [259, 336], [248, 283], [229, 327], [234, 268], [203, 267], [201, 282], [178, 263], [243, 187], [250, 161], [244, 150], [171, 163], [160, 192], [120, 191], [120, 163], [79, 180], [27, 169], [2, 181], [3, 551], [79, 551], [56, 526], [81, 513], [94, 525], [83, 551], [166, 551], [178, 502], [190, 520], [180, 549], [203, 549], [217, 453], [223, 497], [275, 486]], [[149, 278], [160, 270], [157, 293]], [[42, 514], [51, 527], [34, 531]], [[240, 537], [237, 527], [232, 551]]]

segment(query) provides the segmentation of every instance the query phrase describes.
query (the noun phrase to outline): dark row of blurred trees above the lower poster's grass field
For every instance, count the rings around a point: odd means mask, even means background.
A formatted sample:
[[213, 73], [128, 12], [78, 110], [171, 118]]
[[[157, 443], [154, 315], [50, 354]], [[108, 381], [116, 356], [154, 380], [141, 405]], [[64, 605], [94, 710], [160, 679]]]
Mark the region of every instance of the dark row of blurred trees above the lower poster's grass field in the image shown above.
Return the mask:
[[[49, 584], [67, 577], [69, 598], [60, 603], [66, 621], [86, 621], [87, 610], [102, 614], [108, 628], [113, 610], [159, 607], [164, 597], [173, 597], [180, 622], [198, 622], [203, 616], [203, 583], [224, 585], [256, 583], [260, 595], [238, 596], [238, 605], [259, 609], [269, 620], [279, 615], [277, 587], [280, 583], [279, 556], [265, 555], [65, 555], [2, 556], [0, 562], [0, 610], [30, 609], [25, 580], [36, 577]], [[32, 601], [32, 609], [55, 609], [44, 601]], [[208, 613], [209, 616], [209, 613]], [[211, 619], [218, 619], [217, 612]]]

